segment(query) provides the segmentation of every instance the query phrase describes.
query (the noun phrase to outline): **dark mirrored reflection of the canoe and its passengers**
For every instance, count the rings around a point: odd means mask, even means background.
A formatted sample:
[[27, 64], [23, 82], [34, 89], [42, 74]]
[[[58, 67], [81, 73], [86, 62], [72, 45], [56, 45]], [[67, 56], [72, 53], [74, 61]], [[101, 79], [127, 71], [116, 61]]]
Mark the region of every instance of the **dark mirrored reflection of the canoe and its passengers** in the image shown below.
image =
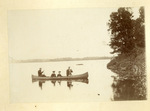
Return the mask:
[[41, 90], [42, 90], [43, 83], [48, 82], [48, 81], [51, 82], [53, 86], [56, 86], [56, 82], [58, 82], [60, 86], [61, 86], [61, 82], [67, 82], [67, 87], [69, 89], [73, 87], [73, 82], [80, 82], [80, 83], [86, 83], [86, 84], [89, 83], [88, 79], [68, 79], [68, 80], [34, 80], [32, 79], [32, 83], [39, 82], [39, 87], [41, 88]]

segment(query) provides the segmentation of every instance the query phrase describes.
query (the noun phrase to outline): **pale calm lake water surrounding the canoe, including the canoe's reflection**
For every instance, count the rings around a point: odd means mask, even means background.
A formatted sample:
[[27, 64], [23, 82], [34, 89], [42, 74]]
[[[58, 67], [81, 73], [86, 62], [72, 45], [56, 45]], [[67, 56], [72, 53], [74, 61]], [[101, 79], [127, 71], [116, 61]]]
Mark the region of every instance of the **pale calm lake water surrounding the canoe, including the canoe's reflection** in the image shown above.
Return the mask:
[[[110, 60], [12, 63], [10, 64], [11, 102], [100, 102], [113, 98], [112, 83], [114, 75], [106, 65]], [[66, 75], [70, 66], [73, 74], [89, 73], [88, 82], [32, 81], [41, 67], [44, 74], [61, 71]], [[69, 87], [70, 85], [70, 87]]]

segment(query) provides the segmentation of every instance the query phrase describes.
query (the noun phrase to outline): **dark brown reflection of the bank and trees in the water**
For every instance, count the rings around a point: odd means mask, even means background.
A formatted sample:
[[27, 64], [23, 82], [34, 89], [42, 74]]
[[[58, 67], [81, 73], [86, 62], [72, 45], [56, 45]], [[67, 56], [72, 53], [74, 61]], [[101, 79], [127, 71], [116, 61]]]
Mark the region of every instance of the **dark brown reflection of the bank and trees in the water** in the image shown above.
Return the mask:
[[[112, 88], [114, 101], [121, 100], [143, 100], [144, 95], [140, 94], [140, 87], [138, 83], [133, 79], [116, 79], [114, 77]], [[137, 88], [135, 87], [137, 86]], [[142, 89], [142, 88], [141, 88]]]

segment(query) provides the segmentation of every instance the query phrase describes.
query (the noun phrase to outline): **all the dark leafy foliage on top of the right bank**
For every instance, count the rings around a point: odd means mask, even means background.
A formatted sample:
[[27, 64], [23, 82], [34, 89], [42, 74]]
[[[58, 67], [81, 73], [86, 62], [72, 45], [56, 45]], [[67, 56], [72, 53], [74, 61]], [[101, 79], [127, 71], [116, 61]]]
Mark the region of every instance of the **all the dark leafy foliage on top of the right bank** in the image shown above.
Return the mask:
[[121, 7], [117, 12], [112, 12], [108, 22], [111, 32], [110, 47], [112, 53], [128, 53], [136, 46], [144, 47], [144, 8], [139, 10], [140, 16], [133, 19], [131, 8]]

